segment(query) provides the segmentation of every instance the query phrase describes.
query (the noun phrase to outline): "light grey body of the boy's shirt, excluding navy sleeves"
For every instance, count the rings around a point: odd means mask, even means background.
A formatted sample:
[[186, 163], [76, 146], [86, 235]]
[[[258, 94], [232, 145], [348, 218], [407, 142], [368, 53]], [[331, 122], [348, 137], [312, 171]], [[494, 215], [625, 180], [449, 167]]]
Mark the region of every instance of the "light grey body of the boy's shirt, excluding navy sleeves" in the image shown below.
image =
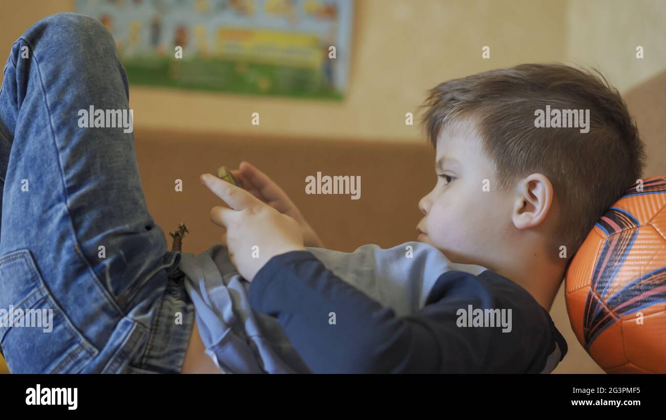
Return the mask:
[[[409, 248], [408, 248], [409, 247]], [[363, 245], [353, 253], [306, 247], [328, 270], [396, 316], [416, 314], [435, 282], [449, 270], [478, 275], [486, 268], [452, 263], [431, 245], [408, 242], [389, 249]], [[411, 257], [406, 257], [411, 251]], [[196, 310], [206, 354], [224, 373], [308, 373], [280, 322], [250, 307], [250, 282], [214, 245], [199, 255], [184, 253], [180, 270]]]

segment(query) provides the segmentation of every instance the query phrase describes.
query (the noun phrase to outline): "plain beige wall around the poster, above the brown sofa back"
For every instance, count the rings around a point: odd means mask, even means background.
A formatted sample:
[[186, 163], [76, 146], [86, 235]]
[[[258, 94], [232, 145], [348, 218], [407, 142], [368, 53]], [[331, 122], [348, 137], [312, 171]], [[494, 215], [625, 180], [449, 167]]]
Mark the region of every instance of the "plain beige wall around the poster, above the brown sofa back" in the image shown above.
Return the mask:
[[[95, 0], [91, 0], [95, 1]], [[7, 2], [0, 51], [31, 23], [71, 0]], [[133, 86], [137, 127], [307, 138], [422, 141], [404, 124], [428, 88], [521, 62], [598, 66], [620, 90], [666, 68], [660, 0], [358, 0], [350, 89], [344, 102], [266, 98]], [[484, 45], [490, 60], [481, 57]], [[645, 58], [635, 58], [635, 47]], [[259, 112], [260, 126], [250, 124]]]

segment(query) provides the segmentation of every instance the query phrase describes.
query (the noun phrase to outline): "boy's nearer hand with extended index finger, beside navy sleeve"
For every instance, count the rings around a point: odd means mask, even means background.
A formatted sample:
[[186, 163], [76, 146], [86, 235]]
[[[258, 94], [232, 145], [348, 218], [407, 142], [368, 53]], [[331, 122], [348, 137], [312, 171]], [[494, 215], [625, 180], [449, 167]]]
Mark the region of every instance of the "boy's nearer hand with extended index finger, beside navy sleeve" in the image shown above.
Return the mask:
[[226, 229], [222, 241], [226, 242], [231, 262], [246, 280], [252, 281], [275, 255], [305, 251], [300, 226], [294, 219], [210, 173], [199, 179], [231, 207], [213, 207], [210, 221]]

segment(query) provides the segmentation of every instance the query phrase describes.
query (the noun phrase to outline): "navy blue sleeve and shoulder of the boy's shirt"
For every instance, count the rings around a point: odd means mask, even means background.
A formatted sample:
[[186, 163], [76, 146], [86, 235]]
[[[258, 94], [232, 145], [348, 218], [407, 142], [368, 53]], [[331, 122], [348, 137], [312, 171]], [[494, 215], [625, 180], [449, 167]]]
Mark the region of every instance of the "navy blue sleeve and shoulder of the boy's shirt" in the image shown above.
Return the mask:
[[498, 306], [486, 281], [460, 271], [440, 276], [420, 312], [398, 317], [311, 253], [292, 251], [259, 270], [248, 297], [254, 310], [278, 319], [313, 373], [539, 371], [545, 358], [534, 360], [531, 343], [516, 334], [552, 344], [543, 328], [514, 326], [511, 335], [458, 326], [461, 308]]

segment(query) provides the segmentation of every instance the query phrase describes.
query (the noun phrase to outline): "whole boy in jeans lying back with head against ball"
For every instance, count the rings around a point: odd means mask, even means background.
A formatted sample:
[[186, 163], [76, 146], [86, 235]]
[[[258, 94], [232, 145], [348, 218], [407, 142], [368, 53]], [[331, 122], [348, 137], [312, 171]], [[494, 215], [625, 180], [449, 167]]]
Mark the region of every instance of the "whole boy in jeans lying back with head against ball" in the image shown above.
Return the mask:
[[[272, 202], [283, 215], [261, 196], [212, 175], [202, 181], [232, 207], [211, 211], [212, 221], [227, 229], [226, 247], [181, 256], [165, 253], [163, 231], [145, 209], [131, 133], [76, 125], [77, 111], [91, 105], [128, 108], [113, 39], [79, 15], [40, 21], [15, 43], [0, 93], [7, 175], [3, 170], [0, 308], [55, 315], [48, 334], [0, 326], [9, 368], [551, 371], [566, 352], [547, 314], [566, 265], [555, 257], [558, 245], [573, 254], [638, 177], [642, 146], [617, 94], [577, 70], [533, 68], [536, 78], [530, 72], [521, 77], [515, 68], [503, 70], [509, 78], [480, 74], [431, 92], [426, 121], [442, 165], [435, 189], [420, 203], [422, 243], [406, 244], [418, 256], [414, 261], [406, 247], [400, 253], [374, 246], [352, 254], [308, 251], [304, 245], [320, 244], [304, 242], [311, 229], [286, 197]], [[520, 81], [522, 90], [515, 86]], [[527, 116], [533, 117], [536, 102], [539, 109], [591, 109], [589, 136], [535, 131]], [[495, 134], [493, 143], [488, 139]], [[594, 161], [581, 164], [599, 150], [612, 173], [601, 173]], [[239, 172], [246, 187], [267, 191], [246, 167]], [[30, 187], [21, 189], [25, 180]], [[389, 269], [381, 272], [382, 266]], [[376, 284], [396, 285], [405, 266], [404, 287], [386, 296], [382, 290], [372, 295], [358, 282], [365, 276], [354, 283], [351, 275], [366, 272]], [[402, 292], [416, 282], [423, 286], [410, 295], [415, 303], [405, 305]], [[220, 300], [225, 294], [228, 300]], [[228, 311], [219, 312], [225, 308], [234, 315], [228, 324], [222, 316]], [[469, 328], [464, 310], [506, 316], [498, 316], [500, 328], [483, 322]]]

